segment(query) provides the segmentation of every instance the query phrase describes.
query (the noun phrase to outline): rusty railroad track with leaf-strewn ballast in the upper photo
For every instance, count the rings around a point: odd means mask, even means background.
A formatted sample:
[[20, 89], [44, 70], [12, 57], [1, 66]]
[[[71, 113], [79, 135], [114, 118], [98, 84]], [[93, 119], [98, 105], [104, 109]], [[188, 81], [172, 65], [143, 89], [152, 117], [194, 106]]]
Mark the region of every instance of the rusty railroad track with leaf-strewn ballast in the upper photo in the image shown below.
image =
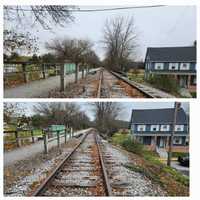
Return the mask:
[[96, 98], [174, 98], [173, 95], [130, 81], [113, 71], [101, 69]]

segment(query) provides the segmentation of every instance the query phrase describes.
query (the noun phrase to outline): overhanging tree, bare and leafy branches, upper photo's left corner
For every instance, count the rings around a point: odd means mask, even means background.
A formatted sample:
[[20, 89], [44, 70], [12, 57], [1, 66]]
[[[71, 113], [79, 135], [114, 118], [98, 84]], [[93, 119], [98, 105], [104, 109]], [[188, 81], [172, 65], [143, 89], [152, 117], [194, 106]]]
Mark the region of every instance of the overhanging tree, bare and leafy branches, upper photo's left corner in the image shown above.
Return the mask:
[[[27, 29], [42, 26], [51, 30], [54, 25], [64, 26], [74, 21], [74, 6], [32, 5], [4, 6], [4, 53], [27, 50], [36, 52], [38, 38]], [[21, 28], [21, 30], [20, 30]]]

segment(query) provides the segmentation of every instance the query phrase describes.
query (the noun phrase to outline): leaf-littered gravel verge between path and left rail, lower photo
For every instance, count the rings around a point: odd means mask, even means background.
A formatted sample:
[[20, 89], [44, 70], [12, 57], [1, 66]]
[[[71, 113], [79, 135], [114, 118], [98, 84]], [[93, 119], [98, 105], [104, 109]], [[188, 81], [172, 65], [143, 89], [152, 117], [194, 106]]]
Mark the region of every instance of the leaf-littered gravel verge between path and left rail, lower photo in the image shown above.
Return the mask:
[[78, 141], [79, 139], [73, 138], [67, 144], [61, 145], [61, 151], [55, 147], [48, 155], [38, 153], [34, 157], [4, 167], [4, 195], [30, 195]]

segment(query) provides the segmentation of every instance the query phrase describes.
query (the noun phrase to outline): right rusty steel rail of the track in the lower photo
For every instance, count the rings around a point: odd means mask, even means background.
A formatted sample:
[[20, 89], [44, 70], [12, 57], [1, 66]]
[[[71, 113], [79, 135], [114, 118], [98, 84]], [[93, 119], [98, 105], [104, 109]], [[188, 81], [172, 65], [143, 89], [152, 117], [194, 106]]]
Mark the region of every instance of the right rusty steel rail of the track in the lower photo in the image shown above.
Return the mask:
[[105, 186], [106, 186], [105, 187], [106, 195], [107, 196], [113, 196], [112, 195], [112, 189], [110, 187], [110, 182], [109, 182], [109, 179], [108, 179], [108, 174], [107, 174], [106, 167], [105, 167], [105, 164], [104, 164], [103, 156], [102, 156], [102, 153], [101, 153], [101, 147], [100, 147], [100, 144], [99, 144], [99, 138], [98, 138], [97, 134], [95, 134], [95, 141], [96, 141], [97, 149], [98, 149], [98, 153], [99, 153], [101, 169], [102, 169], [102, 172], [103, 172], [103, 179], [104, 179], [104, 183], [105, 183]]

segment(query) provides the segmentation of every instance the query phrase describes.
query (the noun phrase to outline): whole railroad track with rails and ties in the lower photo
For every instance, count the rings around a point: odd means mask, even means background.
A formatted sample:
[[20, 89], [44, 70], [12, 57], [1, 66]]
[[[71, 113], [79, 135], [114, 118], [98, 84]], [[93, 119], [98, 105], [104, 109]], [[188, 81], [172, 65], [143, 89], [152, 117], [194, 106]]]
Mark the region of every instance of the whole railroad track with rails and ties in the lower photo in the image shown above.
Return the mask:
[[31, 196], [111, 196], [100, 141], [92, 131], [42, 182]]

